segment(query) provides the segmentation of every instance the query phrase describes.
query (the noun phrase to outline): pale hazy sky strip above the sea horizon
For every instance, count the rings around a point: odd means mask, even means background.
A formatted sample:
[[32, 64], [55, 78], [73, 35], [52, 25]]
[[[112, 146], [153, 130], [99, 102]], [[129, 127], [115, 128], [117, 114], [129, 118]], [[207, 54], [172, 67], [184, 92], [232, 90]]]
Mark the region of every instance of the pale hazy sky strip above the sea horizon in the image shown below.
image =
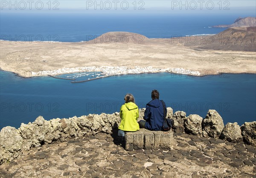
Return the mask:
[[[255, 0], [0, 0], [1, 12], [84, 12], [133, 11], [179, 12], [191, 11], [251, 11]], [[256, 13], [256, 12], [255, 12]]]

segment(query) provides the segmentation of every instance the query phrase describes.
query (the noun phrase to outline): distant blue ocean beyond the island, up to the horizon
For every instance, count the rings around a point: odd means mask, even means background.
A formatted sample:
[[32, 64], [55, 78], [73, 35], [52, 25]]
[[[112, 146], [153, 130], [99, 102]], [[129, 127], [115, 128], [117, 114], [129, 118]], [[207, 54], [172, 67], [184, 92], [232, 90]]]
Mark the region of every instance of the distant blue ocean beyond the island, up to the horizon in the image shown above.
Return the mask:
[[[243, 14], [243, 17], [253, 14]], [[255, 15], [254, 15], [255, 16]], [[237, 14], [1, 14], [0, 39], [11, 41], [80, 42], [110, 31], [128, 31], [148, 38], [218, 34]]]

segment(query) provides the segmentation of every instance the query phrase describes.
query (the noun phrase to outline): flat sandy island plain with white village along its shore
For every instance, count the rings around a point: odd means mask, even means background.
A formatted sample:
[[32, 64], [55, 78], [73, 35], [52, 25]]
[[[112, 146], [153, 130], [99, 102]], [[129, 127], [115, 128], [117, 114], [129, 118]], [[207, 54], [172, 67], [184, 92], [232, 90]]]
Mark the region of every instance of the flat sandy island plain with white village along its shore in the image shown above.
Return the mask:
[[173, 39], [137, 42], [0, 41], [0, 67], [23, 77], [101, 71], [203, 76], [256, 73], [256, 52], [203, 50]]

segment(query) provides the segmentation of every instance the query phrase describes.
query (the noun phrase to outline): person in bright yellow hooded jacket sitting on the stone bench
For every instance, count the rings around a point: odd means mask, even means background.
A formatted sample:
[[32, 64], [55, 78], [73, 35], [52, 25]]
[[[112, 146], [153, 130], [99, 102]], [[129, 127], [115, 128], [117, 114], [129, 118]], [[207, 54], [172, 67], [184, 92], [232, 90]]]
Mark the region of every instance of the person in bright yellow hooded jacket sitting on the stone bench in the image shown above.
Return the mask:
[[[118, 127], [119, 131], [137, 131], [140, 126], [137, 123], [139, 117], [139, 108], [134, 103], [134, 96], [132, 94], [125, 95], [125, 104], [120, 108], [121, 123]], [[119, 132], [119, 136], [124, 136], [124, 132]]]

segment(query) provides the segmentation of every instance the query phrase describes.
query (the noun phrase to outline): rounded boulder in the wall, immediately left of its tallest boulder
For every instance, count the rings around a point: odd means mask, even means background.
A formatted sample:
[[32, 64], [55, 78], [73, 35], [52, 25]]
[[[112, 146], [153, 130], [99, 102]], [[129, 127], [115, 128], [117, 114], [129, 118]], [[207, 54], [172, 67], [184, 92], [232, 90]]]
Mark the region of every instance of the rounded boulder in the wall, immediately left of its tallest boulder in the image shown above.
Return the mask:
[[189, 115], [184, 122], [186, 133], [202, 136], [202, 120], [203, 118], [197, 114]]

